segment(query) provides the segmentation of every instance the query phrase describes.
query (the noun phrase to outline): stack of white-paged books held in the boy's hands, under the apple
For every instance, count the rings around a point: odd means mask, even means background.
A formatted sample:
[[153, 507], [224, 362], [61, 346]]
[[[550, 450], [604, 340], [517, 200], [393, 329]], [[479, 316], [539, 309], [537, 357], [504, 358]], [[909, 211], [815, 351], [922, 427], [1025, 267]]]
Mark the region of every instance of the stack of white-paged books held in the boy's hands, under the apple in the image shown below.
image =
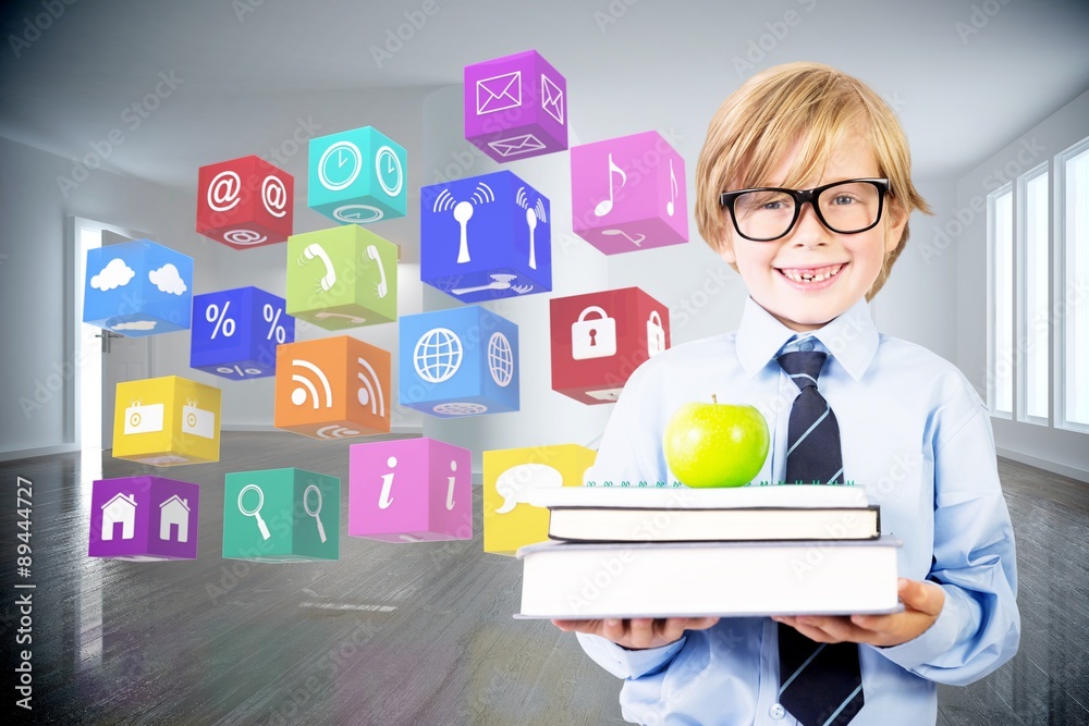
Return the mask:
[[542, 489], [515, 617], [892, 613], [901, 543], [862, 487]]

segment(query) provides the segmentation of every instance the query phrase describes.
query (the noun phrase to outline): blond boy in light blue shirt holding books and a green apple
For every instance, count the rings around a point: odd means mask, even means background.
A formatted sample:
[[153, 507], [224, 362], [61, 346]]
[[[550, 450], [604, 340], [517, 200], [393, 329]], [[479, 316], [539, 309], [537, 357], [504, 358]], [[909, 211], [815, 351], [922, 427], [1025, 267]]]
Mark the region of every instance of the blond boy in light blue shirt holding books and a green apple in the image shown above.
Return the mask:
[[[787, 374], [780, 356], [823, 352], [811, 378], [839, 421], [842, 468], [822, 481], [866, 485], [881, 506], [883, 533], [904, 542], [904, 610], [554, 623], [577, 631], [591, 659], [626, 679], [621, 706], [631, 722], [933, 724], [937, 684], [965, 685], [998, 668], [1016, 652], [1020, 625], [988, 413], [954, 366], [880, 335], [866, 305], [904, 248], [908, 216], [928, 211], [911, 184], [903, 131], [859, 81], [816, 63], [781, 65], [719, 109], [696, 177], [700, 234], [749, 293], [741, 325], [641, 366], [594, 471], [672, 481], [665, 422], [680, 405], [718, 394], [764, 414], [772, 447], [757, 479], [784, 480], [792, 403], [802, 396], [799, 374]], [[813, 653], [824, 650], [818, 643], [840, 643], [828, 652], [849, 653], [861, 688], [824, 711], [827, 721], [799, 716], [804, 709], [788, 710], [781, 698], [781, 684], [793, 681], [790, 669], [780, 672], [781, 640], [784, 648], [800, 640]], [[806, 698], [827, 697], [813, 692], [823, 687], [808, 690]]]

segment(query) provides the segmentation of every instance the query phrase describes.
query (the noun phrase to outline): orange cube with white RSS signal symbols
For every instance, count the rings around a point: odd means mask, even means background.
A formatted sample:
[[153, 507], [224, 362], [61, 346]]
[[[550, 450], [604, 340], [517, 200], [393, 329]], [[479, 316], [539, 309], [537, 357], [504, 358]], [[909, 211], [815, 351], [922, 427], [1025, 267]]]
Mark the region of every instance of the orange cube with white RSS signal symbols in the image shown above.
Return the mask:
[[348, 335], [277, 347], [278, 429], [313, 439], [390, 431], [390, 353]]

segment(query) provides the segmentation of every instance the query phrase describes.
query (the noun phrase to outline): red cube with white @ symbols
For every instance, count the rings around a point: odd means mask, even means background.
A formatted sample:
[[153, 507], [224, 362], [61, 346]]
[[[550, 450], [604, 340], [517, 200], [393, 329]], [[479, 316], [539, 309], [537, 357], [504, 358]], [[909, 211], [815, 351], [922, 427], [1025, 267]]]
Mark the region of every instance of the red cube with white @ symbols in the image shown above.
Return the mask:
[[287, 239], [295, 177], [260, 157], [201, 167], [197, 172], [197, 232], [234, 249]]

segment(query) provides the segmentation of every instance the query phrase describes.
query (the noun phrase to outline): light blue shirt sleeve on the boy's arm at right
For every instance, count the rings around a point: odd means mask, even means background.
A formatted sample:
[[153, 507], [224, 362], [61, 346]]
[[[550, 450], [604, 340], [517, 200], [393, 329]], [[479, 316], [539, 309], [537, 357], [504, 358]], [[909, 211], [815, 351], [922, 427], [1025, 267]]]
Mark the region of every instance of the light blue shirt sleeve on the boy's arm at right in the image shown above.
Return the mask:
[[1014, 536], [994, 439], [987, 409], [975, 392], [969, 397], [967, 415], [938, 431], [934, 445], [934, 562], [927, 579], [941, 586], [944, 605], [919, 637], [878, 649], [923, 678], [951, 685], [996, 669], [1020, 638]]

